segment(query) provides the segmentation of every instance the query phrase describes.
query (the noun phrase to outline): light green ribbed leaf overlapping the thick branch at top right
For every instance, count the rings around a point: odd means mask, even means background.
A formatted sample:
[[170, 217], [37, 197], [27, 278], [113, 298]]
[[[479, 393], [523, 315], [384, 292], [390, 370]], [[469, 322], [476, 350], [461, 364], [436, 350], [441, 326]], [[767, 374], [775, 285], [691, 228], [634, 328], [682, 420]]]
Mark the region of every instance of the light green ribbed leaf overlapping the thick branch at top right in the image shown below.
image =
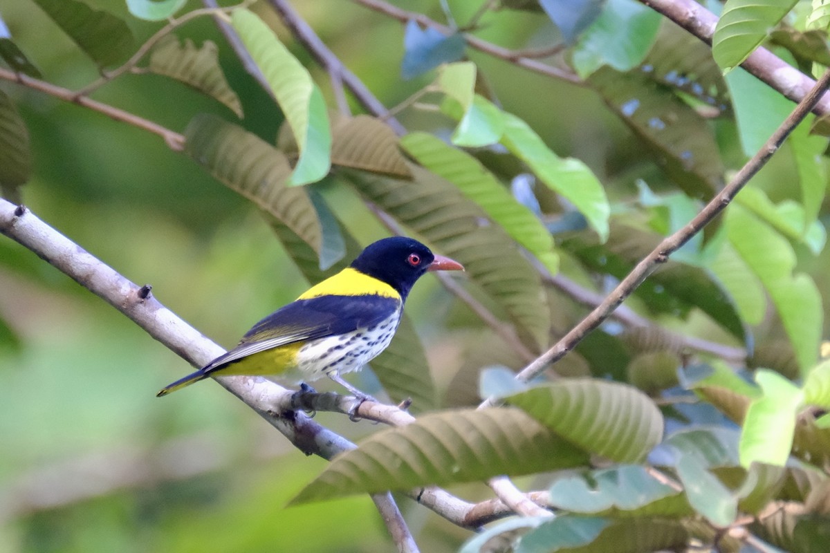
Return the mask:
[[796, 2], [727, 0], [712, 36], [712, 55], [724, 73], [742, 64]]

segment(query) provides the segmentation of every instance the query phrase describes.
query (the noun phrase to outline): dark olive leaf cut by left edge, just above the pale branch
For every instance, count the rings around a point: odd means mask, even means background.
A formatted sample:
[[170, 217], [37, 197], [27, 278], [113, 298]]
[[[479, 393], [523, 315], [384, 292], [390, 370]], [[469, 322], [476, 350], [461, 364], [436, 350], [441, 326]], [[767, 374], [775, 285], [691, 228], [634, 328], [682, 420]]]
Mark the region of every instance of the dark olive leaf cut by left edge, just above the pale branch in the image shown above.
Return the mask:
[[12, 99], [0, 90], [0, 195], [20, 203], [18, 188], [29, 180], [29, 131]]

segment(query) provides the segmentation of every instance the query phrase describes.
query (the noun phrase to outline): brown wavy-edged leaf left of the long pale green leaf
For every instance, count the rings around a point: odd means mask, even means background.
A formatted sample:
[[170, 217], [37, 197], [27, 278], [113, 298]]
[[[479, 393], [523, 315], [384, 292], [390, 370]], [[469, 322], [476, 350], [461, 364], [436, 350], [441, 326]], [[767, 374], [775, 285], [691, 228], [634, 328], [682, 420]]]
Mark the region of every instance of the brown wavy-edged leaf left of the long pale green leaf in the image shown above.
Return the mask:
[[219, 66], [218, 49], [212, 41], [204, 41], [197, 48], [189, 38], [181, 45], [178, 38], [168, 35], [150, 53], [149, 70], [193, 86], [242, 118], [242, 104], [227, 84]]

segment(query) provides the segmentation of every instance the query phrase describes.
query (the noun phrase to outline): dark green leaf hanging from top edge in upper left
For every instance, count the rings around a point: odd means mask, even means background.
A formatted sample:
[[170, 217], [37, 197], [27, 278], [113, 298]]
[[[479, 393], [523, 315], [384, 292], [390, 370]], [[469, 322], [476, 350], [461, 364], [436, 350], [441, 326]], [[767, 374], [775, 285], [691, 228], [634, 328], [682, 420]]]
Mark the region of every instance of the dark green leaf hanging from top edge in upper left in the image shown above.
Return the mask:
[[111, 65], [132, 52], [133, 33], [111, 13], [78, 0], [34, 1], [96, 64]]

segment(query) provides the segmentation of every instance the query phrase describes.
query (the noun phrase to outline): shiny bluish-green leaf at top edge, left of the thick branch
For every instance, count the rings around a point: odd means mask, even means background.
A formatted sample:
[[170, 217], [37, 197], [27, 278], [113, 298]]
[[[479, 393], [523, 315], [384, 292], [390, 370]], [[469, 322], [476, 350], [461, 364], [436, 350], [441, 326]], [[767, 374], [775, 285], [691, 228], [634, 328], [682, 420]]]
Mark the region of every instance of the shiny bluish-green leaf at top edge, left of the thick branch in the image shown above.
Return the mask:
[[660, 28], [660, 14], [634, 0], [609, 0], [574, 47], [572, 64], [583, 79], [603, 65], [627, 71], [640, 65]]

